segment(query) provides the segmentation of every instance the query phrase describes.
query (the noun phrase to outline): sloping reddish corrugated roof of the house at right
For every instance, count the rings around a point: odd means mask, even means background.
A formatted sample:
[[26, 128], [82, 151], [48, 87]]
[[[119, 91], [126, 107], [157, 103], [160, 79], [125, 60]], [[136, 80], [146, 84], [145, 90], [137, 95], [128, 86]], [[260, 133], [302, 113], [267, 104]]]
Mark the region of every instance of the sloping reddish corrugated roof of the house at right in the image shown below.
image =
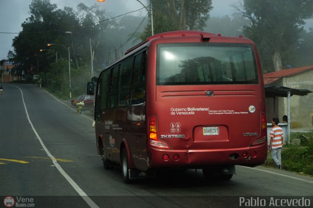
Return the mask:
[[275, 71], [275, 72], [263, 74], [264, 85], [273, 83], [282, 77], [290, 77], [290, 76], [300, 74], [302, 72], [305, 72], [305, 71], [311, 70], [311, 69], [313, 69], [313, 65], [303, 66], [303, 67], [298, 67], [298, 68], [291, 68], [291, 69], [283, 69], [280, 71]]

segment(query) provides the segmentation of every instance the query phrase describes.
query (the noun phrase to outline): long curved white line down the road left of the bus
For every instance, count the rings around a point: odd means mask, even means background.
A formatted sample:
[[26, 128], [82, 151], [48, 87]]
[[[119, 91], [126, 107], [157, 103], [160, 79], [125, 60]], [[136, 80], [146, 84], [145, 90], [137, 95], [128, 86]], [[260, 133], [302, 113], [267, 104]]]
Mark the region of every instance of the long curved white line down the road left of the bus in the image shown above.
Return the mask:
[[[15, 86], [15, 85], [13, 85]], [[85, 202], [91, 207], [91, 208], [99, 208], [90, 198], [89, 196], [75, 183], [75, 181], [73, 181], [73, 179], [71, 179], [71, 177], [69, 177], [69, 175], [64, 171], [64, 169], [58, 164], [57, 160], [55, 159], [55, 157], [49, 152], [49, 150], [47, 149], [47, 147], [45, 146], [44, 142], [42, 141], [42, 139], [40, 138], [39, 134], [37, 133], [36, 129], [34, 128], [33, 123], [30, 121], [29, 115], [28, 115], [28, 111], [26, 108], [26, 104], [24, 102], [24, 96], [23, 96], [23, 92], [22, 89], [18, 86], [15, 86], [17, 88], [20, 89], [21, 93], [22, 93], [22, 100], [23, 100], [23, 104], [24, 104], [24, 108], [25, 108], [25, 112], [26, 112], [26, 116], [28, 119], [29, 124], [31, 125], [32, 129], [34, 130], [34, 133], [36, 134], [40, 144], [43, 146], [46, 154], [51, 158], [53, 164], [55, 165], [55, 167], [59, 170], [59, 172], [63, 175], [63, 177], [67, 180], [67, 182], [76, 190], [76, 192], [85, 200]]]

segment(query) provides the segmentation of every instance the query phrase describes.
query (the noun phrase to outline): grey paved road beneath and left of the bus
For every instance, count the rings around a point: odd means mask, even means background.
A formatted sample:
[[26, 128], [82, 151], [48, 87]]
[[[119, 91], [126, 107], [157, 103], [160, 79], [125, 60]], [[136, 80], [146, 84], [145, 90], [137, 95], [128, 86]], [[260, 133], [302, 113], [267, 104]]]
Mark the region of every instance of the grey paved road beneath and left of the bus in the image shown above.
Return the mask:
[[205, 182], [201, 170], [188, 170], [124, 184], [120, 168], [104, 170], [97, 156], [91, 114], [78, 114], [37, 85], [2, 86], [0, 207], [6, 196], [60, 208], [239, 207], [263, 198], [268, 205], [267, 196], [305, 197], [313, 206], [312, 177], [262, 166], [238, 166], [227, 182]]

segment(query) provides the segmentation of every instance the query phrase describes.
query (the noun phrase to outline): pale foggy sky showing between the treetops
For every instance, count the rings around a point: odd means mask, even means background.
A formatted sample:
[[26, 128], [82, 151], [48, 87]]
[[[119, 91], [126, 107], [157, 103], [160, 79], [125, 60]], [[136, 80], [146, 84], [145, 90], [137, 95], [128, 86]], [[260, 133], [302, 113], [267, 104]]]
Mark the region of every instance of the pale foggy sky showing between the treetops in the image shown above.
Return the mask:
[[[147, 5], [146, 0], [140, 1]], [[231, 15], [234, 9], [230, 7], [230, 4], [237, 1], [241, 0], [212, 0], [214, 8], [210, 12], [210, 16]], [[100, 5], [100, 8], [105, 9], [112, 17], [142, 8], [142, 5], [136, 0], [106, 0], [105, 2], [97, 2], [96, 0], [50, 0], [50, 3], [57, 4], [59, 9], [64, 9], [65, 6], [76, 9], [79, 2], [83, 2], [87, 6]], [[0, 32], [19, 33], [22, 31], [21, 24], [29, 17], [30, 3], [31, 0], [0, 0]], [[132, 13], [132, 15], [145, 16], [146, 11], [143, 9], [140, 12]], [[313, 20], [310, 23], [313, 27]], [[0, 60], [7, 58], [9, 50], [13, 51], [12, 39], [17, 35], [0, 33]]]

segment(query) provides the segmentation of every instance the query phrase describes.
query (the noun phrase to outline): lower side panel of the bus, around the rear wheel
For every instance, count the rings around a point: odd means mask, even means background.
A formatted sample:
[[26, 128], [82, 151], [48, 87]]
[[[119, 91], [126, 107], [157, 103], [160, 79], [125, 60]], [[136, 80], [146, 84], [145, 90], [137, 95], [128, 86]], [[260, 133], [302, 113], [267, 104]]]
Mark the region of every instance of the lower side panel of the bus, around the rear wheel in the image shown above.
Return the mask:
[[129, 161], [138, 169], [147, 169], [147, 148], [145, 135], [145, 106], [127, 107], [103, 111], [100, 134], [107, 158], [120, 163], [120, 146], [126, 140]]

